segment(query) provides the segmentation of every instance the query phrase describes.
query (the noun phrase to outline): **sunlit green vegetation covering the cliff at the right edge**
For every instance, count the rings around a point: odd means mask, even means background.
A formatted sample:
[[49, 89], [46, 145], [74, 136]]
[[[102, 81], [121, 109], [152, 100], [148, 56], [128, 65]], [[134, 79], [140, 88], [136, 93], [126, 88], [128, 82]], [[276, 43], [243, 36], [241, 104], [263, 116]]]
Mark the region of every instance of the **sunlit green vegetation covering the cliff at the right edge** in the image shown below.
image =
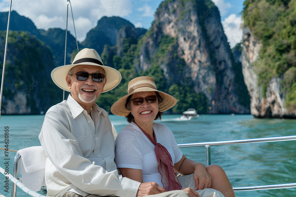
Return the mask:
[[[263, 96], [273, 76], [283, 76], [287, 93], [285, 107], [296, 106], [296, 1], [247, 0], [244, 24], [262, 41], [258, 60], [253, 65], [259, 75]], [[289, 77], [287, 77], [289, 76]], [[287, 85], [287, 82], [289, 82]], [[282, 92], [283, 93], [283, 92]]]

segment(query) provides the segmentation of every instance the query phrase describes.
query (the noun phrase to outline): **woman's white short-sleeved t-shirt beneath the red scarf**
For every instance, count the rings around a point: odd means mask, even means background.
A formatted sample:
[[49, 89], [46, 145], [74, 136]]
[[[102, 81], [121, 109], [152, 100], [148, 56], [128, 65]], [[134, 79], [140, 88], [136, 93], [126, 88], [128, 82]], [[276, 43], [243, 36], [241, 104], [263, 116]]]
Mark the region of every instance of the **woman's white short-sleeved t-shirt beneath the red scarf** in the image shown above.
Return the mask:
[[[173, 164], [180, 161], [183, 153], [179, 149], [175, 137], [164, 124], [153, 123], [157, 143], [163, 145]], [[161, 175], [158, 172], [158, 161], [154, 152], [155, 145], [145, 136], [135, 123], [124, 127], [116, 137], [115, 163], [118, 168], [140, 169], [143, 182], [156, 182], [163, 187]]]

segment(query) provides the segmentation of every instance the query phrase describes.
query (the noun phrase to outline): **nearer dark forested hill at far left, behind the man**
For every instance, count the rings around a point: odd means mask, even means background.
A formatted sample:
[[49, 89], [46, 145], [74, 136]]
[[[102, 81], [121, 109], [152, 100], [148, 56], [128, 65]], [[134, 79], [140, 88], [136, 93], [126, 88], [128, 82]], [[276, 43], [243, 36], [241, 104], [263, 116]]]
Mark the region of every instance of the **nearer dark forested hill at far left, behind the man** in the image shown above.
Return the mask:
[[[1, 59], [5, 38], [6, 31], [0, 31]], [[9, 31], [2, 103], [5, 113], [40, 114], [61, 102], [62, 91], [50, 77], [54, 68], [52, 53], [35, 35]]]

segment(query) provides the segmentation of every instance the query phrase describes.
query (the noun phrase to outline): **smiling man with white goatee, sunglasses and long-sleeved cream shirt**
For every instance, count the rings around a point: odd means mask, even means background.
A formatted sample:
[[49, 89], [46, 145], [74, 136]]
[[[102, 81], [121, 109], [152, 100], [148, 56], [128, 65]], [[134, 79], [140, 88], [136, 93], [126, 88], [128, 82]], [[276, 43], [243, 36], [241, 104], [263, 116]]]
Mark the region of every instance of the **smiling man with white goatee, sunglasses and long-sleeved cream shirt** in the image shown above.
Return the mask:
[[47, 196], [198, 196], [193, 190], [165, 192], [154, 182], [139, 183], [118, 175], [117, 132], [95, 101], [115, 88], [121, 75], [104, 66], [95, 50], [81, 50], [71, 65], [54, 69], [52, 79], [71, 94], [46, 112], [39, 135], [48, 157]]

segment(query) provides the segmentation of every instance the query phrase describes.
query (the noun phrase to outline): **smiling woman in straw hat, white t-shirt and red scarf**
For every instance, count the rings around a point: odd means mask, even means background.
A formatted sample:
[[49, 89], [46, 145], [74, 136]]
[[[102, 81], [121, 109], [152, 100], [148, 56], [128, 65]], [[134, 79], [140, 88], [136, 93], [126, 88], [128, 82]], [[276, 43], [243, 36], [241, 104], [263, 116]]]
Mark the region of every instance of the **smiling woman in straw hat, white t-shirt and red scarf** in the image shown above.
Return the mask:
[[[176, 103], [174, 97], [156, 89], [152, 78], [131, 80], [128, 94], [111, 107], [113, 114], [125, 116], [130, 123], [116, 138], [115, 163], [121, 175], [141, 183], [156, 182], [166, 191], [183, 189], [189, 196], [235, 196], [220, 166], [205, 167], [187, 159], [172, 131], [153, 122]], [[177, 178], [176, 172], [183, 176]]]

